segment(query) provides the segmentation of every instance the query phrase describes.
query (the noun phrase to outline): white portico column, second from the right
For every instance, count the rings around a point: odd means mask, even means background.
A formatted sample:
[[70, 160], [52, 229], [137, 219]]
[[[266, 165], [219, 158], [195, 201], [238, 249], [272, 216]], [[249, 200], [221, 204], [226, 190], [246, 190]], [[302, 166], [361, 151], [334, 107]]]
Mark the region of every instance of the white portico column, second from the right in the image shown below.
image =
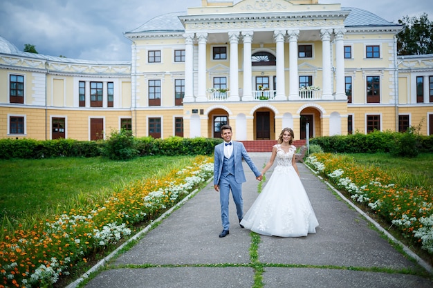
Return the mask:
[[332, 29], [320, 30], [322, 37], [322, 99], [333, 99], [331, 91], [331, 32]]

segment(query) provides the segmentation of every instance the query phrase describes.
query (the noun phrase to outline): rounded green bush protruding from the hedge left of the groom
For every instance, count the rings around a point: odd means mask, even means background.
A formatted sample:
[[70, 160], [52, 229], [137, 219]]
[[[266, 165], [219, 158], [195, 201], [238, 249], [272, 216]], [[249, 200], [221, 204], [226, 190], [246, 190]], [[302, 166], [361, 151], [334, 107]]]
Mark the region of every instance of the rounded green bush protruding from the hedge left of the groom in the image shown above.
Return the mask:
[[109, 139], [102, 146], [102, 155], [111, 160], [131, 160], [138, 155], [136, 139], [132, 131], [121, 129], [112, 131]]

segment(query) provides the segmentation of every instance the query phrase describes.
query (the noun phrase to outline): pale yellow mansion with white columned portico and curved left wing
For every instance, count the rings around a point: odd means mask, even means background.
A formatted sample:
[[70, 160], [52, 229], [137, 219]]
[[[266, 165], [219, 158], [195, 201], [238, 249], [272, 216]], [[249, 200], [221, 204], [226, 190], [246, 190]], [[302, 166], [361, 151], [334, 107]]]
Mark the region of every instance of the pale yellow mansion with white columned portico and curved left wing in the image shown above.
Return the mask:
[[203, 0], [125, 32], [131, 61], [35, 55], [0, 37], [0, 137], [219, 137], [226, 123], [240, 141], [286, 126], [296, 139], [432, 135], [433, 55], [399, 57], [401, 28], [317, 0]]

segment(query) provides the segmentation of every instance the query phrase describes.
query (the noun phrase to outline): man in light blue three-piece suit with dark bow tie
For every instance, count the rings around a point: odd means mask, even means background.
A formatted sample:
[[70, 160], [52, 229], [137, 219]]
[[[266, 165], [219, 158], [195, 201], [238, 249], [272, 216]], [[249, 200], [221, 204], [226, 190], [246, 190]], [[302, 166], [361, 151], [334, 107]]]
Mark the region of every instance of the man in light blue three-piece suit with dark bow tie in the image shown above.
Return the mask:
[[[241, 142], [232, 141], [232, 127], [221, 126], [221, 137], [224, 142], [215, 146], [214, 151], [214, 189], [219, 192], [221, 203], [221, 220], [223, 231], [219, 238], [228, 235], [230, 223], [228, 221], [228, 200], [232, 190], [234, 204], [236, 204], [237, 218], [239, 223], [243, 217], [242, 183], [246, 182], [243, 173], [242, 158], [254, 172], [256, 179], [261, 181], [262, 175], [252, 162]], [[243, 228], [243, 226], [241, 225]]]

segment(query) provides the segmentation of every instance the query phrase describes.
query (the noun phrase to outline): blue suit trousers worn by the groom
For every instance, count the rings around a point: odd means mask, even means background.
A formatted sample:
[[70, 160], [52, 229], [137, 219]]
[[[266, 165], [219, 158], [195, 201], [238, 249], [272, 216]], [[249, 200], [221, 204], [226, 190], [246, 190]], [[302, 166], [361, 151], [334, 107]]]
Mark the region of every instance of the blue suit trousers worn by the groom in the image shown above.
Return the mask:
[[228, 200], [232, 191], [234, 204], [236, 205], [237, 218], [243, 217], [243, 199], [242, 199], [242, 184], [237, 183], [232, 174], [227, 177], [221, 176], [219, 178], [219, 202], [221, 203], [221, 221], [223, 230], [230, 229], [230, 222], [228, 220]]

